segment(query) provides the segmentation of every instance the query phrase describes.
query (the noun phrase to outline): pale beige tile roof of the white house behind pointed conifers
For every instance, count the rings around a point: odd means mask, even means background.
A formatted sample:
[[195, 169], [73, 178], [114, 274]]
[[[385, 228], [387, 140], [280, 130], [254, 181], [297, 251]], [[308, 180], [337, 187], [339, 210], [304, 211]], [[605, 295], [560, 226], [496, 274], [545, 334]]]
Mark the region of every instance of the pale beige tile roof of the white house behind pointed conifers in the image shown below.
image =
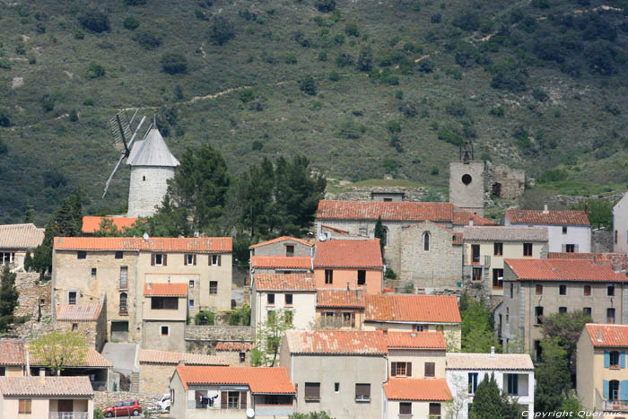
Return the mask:
[[447, 354], [448, 370], [534, 370], [529, 354]]

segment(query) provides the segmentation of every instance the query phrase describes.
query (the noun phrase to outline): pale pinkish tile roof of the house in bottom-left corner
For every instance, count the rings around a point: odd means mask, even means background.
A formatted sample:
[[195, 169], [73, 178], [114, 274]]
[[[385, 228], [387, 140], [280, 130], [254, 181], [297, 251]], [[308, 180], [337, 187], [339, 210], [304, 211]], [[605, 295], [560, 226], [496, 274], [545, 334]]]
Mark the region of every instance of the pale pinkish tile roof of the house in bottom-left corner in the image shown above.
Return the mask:
[[0, 393], [6, 396], [93, 396], [92, 383], [79, 377], [0, 377]]

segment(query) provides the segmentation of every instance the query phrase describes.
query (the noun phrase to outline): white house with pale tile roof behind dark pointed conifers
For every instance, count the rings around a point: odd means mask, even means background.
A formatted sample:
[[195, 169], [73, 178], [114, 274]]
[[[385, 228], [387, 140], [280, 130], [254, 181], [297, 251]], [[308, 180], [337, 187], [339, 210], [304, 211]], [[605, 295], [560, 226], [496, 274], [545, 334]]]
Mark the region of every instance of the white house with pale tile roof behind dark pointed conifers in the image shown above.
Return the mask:
[[534, 364], [529, 354], [447, 354], [447, 382], [453, 397], [461, 398], [458, 418], [467, 419], [477, 386], [494, 374], [497, 387], [534, 416]]

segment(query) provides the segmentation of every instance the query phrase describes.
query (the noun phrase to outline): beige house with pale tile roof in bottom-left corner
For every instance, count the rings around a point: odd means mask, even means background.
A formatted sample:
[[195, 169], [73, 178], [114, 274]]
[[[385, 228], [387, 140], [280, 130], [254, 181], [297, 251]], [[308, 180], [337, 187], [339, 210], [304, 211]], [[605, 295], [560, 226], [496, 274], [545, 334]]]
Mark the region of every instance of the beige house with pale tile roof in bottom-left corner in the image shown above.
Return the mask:
[[93, 419], [93, 390], [87, 377], [0, 377], [3, 419]]

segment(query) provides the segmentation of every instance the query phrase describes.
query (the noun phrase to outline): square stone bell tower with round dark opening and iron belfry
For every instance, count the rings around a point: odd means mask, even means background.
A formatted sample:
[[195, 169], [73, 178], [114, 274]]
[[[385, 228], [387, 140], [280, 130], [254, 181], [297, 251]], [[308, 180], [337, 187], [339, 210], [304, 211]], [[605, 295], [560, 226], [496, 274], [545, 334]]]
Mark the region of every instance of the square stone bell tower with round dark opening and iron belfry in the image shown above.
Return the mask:
[[484, 216], [484, 161], [475, 161], [473, 144], [460, 146], [460, 161], [449, 163], [449, 202]]

